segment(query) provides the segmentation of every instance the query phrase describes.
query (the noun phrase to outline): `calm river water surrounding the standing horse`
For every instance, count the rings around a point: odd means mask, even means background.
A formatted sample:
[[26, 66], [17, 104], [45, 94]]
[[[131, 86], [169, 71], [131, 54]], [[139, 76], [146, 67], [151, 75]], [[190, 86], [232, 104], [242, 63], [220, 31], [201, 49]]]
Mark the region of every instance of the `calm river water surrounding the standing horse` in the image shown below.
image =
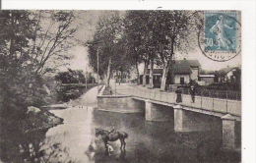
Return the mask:
[[[175, 133], [173, 122], [147, 122], [141, 114], [96, 111], [91, 107], [52, 110], [64, 124], [30, 135], [1, 139], [4, 162], [239, 162], [237, 153], [224, 153], [222, 127], [212, 132]], [[126, 150], [120, 141], [104, 142], [96, 137], [95, 128], [126, 132]], [[3, 137], [3, 136], [1, 136]]]

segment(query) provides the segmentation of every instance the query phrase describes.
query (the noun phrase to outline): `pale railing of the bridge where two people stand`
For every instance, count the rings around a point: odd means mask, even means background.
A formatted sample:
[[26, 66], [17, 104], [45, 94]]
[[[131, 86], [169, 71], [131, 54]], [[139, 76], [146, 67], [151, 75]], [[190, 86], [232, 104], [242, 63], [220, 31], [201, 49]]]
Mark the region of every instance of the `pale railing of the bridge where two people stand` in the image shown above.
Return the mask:
[[[150, 89], [119, 89], [117, 90], [118, 94], [132, 95], [139, 98], [151, 99], [165, 103], [176, 103], [176, 93], [174, 92], [161, 92], [158, 90]], [[241, 116], [241, 101], [239, 100], [230, 100], [222, 98], [213, 98], [196, 95], [195, 101], [192, 102], [191, 95], [181, 94], [182, 102], [180, 105], [204, 109], [208, 111], [231, 114], [234, 116]]]

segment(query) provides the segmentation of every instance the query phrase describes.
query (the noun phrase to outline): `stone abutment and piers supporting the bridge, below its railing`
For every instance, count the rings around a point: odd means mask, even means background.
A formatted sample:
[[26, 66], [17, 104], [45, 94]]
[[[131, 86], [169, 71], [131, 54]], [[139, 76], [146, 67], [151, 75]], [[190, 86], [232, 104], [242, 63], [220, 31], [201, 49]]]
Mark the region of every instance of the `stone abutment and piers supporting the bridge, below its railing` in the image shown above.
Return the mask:
[[[234, 149], [241, 144], [241, 122], [237, 117], [215, 114], [168, 104], [149, 99], [134, 99], [128, 95], [97, 96], [99, 110], [108, 112], [136, 113], [145, 111], [146, 121], [173, 122], [170, 130], [175, 132], [218, 131], [223, 139], [223, 147]], [[222, 136], [223, 135], [223, 136]]]

